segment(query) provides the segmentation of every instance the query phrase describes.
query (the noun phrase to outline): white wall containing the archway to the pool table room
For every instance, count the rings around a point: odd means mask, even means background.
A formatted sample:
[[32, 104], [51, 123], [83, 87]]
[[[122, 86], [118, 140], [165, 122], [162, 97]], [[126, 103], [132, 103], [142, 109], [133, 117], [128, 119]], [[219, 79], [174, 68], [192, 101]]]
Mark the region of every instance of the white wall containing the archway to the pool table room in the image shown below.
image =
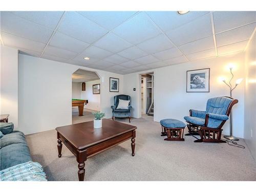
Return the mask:
[[[123, 76], [90, 68], [18, 55], [18, 119], [20, 131], [31, 134], [72, 124], [72, 74], [95, 71], [101, 78], [100, 108], [111, 117], [113, 97], [122, 94]], [[120, 79], [119, 93], [109, 92], [109, 78]]]

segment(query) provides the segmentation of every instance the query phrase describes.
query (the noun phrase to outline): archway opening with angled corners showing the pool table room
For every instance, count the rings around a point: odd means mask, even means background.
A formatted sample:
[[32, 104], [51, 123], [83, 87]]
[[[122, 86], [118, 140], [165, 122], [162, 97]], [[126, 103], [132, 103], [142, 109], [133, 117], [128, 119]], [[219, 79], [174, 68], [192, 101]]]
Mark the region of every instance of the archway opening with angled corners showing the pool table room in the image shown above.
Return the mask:
[[78, 69], [72, 74], [72, 124], [92, 121], [100, 111], [100, 77]]

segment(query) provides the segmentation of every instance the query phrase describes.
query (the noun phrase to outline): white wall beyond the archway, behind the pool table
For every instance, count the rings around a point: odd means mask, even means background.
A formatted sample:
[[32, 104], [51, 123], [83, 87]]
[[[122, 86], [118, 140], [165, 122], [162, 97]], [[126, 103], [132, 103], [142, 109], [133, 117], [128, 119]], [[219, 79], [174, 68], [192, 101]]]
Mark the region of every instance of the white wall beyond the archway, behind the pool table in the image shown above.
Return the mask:
[[84, 108], [100, 111], [100, 94], [93, 94], [93, 84], [99, 83], [100, 79], [86, 82], [86, 91], [81, 92], [81, 98], [88, 99], [88, 103]]

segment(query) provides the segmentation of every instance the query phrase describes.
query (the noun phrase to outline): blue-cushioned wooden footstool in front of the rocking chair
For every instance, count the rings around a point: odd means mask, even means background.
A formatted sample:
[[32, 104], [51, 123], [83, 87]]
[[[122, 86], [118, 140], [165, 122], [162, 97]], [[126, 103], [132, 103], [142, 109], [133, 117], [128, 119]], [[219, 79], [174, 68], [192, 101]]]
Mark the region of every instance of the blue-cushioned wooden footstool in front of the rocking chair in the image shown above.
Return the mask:
[[183, 132], [186, 126], [185, 123], [177, 119], [162, 119], [160, 121], [162, 126], [161, 136], [167, 136], [166, 141], [184, 141]]

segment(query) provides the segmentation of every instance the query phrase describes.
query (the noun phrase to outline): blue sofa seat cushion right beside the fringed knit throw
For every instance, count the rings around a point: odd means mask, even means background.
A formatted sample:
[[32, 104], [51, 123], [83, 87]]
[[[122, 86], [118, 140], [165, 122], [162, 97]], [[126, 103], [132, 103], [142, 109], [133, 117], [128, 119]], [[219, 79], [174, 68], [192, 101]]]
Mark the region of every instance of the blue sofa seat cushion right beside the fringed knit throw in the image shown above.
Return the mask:
[[29, 147], [25, 143], [7, 145], [0, 150], [0, 170], [31, 161]]

